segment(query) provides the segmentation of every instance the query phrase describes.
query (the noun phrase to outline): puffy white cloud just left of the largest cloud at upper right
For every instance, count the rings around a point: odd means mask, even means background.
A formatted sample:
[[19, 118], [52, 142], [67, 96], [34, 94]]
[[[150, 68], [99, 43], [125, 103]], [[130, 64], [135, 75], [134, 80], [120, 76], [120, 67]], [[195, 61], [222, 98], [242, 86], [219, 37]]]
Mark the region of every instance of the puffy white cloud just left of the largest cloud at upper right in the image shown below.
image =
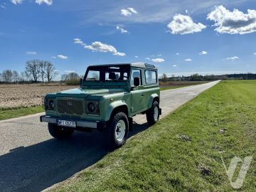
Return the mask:
[[173, 21], [167, 25], [173, 34], [189, 34], [201, 32], [206, 28], [202, 23], [194, 23], [190, 16], [178, 14], [174, 16]]

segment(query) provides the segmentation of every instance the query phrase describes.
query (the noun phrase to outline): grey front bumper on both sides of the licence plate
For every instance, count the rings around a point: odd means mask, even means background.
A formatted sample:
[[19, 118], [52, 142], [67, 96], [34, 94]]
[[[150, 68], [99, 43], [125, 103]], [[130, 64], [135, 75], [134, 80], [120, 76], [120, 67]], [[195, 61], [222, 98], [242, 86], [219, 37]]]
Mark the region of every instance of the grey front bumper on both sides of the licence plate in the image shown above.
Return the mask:
[[[43, 115], [40, 117], [40, 122], [48, 122], [48, 123], [53, 123], [57, 124], [57, 119], [56, 117], [50, 117]], [[85, 127], [85, 128], [92, 128], [92, 129], [102, 129], [106, 127], [106, 122], [92, 122], [92, 121], [81, 121], [81, 120], [75, 120], [77, 127]]]

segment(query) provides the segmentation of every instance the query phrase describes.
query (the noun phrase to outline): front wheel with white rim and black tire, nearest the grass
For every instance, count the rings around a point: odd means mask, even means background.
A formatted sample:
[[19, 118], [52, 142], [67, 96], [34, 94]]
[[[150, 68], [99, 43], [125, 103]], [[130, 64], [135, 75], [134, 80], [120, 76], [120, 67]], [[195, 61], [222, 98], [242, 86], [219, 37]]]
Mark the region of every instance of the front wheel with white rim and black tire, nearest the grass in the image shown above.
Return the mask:
[[[118, 123], [125, 124], [125, 133], [122, 132], [124, 133], [124, 136], [119, 138], [117, 138], [118, 137], [117, 134], [119, 134], [121, 131], [119, 131], [119, 128], [117, 128], [117, 126], [119, 125]], [[116, 134], [116, 132], [119, 132], [119, 133]], [[112, 116], [112, 118], [107, 124], [106, 135], [105, 135], [107, 139], [107, 146], [110, 149], [116, 149], [124, 145], [128, 137], [128, 132], [129, 132], [129, 122], [128, 122], [127, 115], [124, 112], [117, 112]]]

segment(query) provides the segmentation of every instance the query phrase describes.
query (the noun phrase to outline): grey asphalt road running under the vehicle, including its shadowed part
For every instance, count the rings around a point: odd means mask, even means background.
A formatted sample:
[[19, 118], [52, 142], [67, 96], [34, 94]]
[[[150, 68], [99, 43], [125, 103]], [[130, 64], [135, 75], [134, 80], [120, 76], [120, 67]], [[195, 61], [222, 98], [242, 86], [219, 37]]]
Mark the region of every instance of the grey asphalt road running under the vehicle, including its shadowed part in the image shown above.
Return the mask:
[[[217, 83], [162, 91], [161, 117]], [[39, 122], [42, 114], [0, 121], [0, 191], [42, 191], [108, 153], [100, 132], [75, 132], [65, 141], [53, 139], [47, 124]], [[147, 128], [146, 116], [137, 115], [130, 137]]]

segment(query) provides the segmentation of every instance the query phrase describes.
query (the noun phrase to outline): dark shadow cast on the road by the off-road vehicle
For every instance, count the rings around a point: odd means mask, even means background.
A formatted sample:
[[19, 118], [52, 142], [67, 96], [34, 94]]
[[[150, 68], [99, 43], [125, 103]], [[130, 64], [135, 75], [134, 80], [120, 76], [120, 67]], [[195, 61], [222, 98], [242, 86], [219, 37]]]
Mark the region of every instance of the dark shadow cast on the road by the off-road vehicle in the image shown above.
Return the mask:
[[[146, 123], [134, 124], [129, 137], [147, 128]], [[49, 139], [11, 149], [0, 156], [0, 189], [42, 191], [102, 159], [109, 153], [102, 141], [100, 132], [75, 132], [65, 141]]]

